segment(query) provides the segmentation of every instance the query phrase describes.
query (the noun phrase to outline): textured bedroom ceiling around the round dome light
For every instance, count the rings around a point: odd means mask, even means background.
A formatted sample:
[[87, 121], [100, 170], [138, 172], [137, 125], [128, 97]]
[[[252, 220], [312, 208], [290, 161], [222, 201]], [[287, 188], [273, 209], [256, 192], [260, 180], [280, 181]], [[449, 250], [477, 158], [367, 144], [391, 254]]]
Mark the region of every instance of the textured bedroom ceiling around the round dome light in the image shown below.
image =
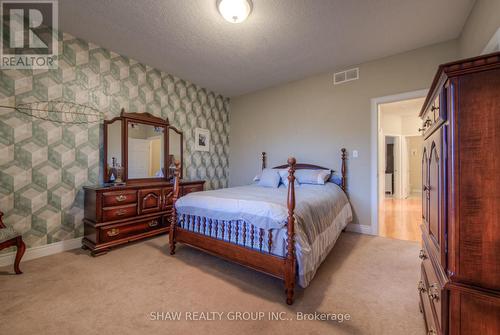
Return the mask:
[[237, 96], [457, 38], [474, 0], [60, 0], [63, 31]]

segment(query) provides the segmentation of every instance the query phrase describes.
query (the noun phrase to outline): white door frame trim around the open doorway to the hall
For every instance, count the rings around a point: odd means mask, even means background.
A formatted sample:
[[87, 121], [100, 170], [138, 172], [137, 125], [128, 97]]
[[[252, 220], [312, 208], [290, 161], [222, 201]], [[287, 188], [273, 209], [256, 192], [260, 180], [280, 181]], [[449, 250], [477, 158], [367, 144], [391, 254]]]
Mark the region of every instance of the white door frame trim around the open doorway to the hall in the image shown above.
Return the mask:
[[379, 205], [379, 176], [378, 176], [378, 137], [379, 137], [379, 105], [388, 102], [416, 99], [427, 96], [429, 89], [387, 95], [371, 99], [371, 229], [372, 235], [378, 235], [378, 205]]

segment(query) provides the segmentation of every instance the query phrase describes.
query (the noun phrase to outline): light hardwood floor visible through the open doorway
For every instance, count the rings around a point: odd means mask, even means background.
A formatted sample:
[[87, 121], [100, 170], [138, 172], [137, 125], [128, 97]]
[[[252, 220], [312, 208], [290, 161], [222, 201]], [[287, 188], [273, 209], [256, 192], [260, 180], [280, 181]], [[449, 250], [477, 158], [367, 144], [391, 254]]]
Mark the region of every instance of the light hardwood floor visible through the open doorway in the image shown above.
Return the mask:
[[398, 240], [422, 240], [419, 225], [422, 221], [420, 195], [407, 199], [386, 198], [379, 208], [379, 235]]

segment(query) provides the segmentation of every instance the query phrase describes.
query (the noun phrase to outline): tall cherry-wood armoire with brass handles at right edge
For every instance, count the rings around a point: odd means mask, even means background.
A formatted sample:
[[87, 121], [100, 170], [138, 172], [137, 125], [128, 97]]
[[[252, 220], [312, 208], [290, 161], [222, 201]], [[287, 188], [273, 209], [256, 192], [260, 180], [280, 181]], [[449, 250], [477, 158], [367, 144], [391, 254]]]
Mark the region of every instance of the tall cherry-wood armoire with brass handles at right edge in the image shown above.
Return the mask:
[[500, 53], [441, 65], [420, 116], [427, 333], [500, 334]]

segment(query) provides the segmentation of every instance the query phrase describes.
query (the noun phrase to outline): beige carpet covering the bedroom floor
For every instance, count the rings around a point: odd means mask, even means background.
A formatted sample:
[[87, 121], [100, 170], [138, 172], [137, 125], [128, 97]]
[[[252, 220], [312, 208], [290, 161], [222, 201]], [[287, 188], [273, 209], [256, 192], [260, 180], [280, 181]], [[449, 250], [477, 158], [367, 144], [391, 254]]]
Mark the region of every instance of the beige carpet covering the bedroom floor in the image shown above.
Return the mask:
[[[169, 256], [167, 244], [162, 236], [97, 258], [74, 250], [24, 262], [20, 276], [0, 268], [0, 334], [425, 333], [417, 243], [343, 233], [293, 306], [277, 279], [185, 246]], [[265, 316], [231, 320], [237, 311]], [[151, 321], [151, 312], [183, 314]], [[193, 312], [225, 314], [186, 321]], [[272, 321], [268, 312], [292, 320]], [[298, 321], [297, 312], [348, 313], [351, 320]]]

